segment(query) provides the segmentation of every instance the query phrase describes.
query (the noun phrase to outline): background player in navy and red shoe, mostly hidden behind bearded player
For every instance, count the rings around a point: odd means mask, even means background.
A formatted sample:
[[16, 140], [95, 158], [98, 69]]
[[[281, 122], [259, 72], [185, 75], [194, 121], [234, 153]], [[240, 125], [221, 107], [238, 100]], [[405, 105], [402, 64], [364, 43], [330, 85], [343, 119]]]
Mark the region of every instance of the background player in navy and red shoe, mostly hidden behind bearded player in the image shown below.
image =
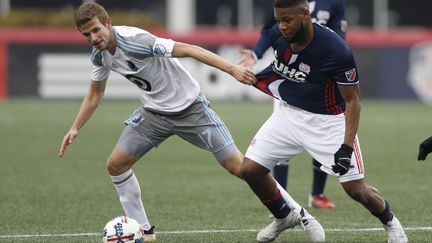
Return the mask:
[[[345, 4], [343, 0], [314, 0], [309, 1], [309, 10], [312, 21], [325, 25], [335, 31], [338, 35], [345, 39], [347, 22], [345, 20]], [[252, 50], [241, 50], [242, 59], [240, 64], [245, 67], [252, 67], [259, 59], [261, 59], [267, 49], [270, 48], [269, 33], [271, 28], [276, 24], [273, 9], [269, 12], [268, 20], [261, 30], [261, 36]], [[275, 109], [277, 107], [277, 99], [274, 100]], [[324, 187], [327, 181], [327, 174], [322, 172], [319, 167], [321, 164], [312, 159], [312, 190], [308, 199], [308, 206], [313, 208], [334, 208], [335, 204], [330, 202], [328, 197], [324, 195]], [[273, 169], [274, 177], [279, 184], [287, 189], [289, 161], [280, 161]]]

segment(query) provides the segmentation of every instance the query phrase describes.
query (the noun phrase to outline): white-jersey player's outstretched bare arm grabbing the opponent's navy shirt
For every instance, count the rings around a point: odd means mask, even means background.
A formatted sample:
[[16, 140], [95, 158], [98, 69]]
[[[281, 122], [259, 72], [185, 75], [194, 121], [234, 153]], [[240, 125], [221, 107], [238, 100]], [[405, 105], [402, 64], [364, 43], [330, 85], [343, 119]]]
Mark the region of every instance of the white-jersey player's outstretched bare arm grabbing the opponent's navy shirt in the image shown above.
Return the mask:
[[251, 70], [241, 66], [234, 66], [224, 58], [196, 45], [176, 42], [172, 51], [172, 56], [192, 57], [202, 63], [230, 74], [238, 81], [247, 85], [252, 85], [257, 81]]

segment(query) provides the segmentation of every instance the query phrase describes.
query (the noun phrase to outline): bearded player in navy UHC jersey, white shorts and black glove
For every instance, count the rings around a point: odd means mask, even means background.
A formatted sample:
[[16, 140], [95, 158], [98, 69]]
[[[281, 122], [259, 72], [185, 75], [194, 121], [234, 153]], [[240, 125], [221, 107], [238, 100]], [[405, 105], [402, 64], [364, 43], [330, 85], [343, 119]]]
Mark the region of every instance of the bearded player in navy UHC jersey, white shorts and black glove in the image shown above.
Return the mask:
[[277, 25], [269, 39], [275, 59], [256, 75], [255, 87], [281, 102], [254, 136], [241, 168], [243, 179], [274, 215], [257, 240], [272, 241], [300, 219], [270, 171], [279, 161], [308, 152], [383, 224], [388, 242], [407, 242], [389, 203], [364, 180], [357, 137], [359, 75], [350, 47], [312, 22], [306, 0], [276, 0], [274, 14]]

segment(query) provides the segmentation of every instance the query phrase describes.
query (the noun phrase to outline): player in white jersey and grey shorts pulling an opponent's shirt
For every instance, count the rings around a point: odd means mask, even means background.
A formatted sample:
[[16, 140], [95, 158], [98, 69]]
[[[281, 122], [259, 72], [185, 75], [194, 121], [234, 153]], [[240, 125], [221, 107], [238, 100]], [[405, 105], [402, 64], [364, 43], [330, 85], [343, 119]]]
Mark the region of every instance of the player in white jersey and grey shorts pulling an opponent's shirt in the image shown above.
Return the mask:
[[[135, 27], [113, 26], [105, 9], [85, 3], [75, 13], [75, 24], [93, 46], [90, 88], [70, 130], [64, 136], [59, 156], [77, 137], [99, 105], [110, 71], [123, 75], [141, 91], [142, 107], [126, 121], [127, 126], [107, 160], [107, 169], [125, 214], [145, 230], [145, 242], [156, 240], [141, 200], [141, 189], [132, 172], [135, 162], [171, 135], [210, 151], [231, 174], [240, 177], [242, 153], [230, 132], [201, 93], [197, 81], [174, 57], [192, 57], [229, 73], [251, 85], [254, 74], [201, 47], [156, 37]], [[279, 186], [280, 187], [280, 186]], [[281, 188], [281, 187], [280, 187]], [[281, 188], [287, 201], [292, 198]], [[305, 210], [303, 227], [308, 238], [323, 232]], [[297, 222], [300, 224], [300, 222]]]

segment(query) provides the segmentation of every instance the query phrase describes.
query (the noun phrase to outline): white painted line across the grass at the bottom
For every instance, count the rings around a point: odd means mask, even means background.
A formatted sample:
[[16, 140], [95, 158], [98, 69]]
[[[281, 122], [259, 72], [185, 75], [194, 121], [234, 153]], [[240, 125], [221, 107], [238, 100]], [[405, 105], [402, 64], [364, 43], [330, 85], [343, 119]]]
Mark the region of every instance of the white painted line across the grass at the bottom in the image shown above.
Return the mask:
[[[405, 231], [432, 231], [432, 227], [406, 227]], [[326, 232], [372, 232], [382, 231], [383, 228], [356, 228], [356, 229], [326, 229]], [[238, 233], [238, 232], [258, 232], [257, 229], [239, 230], [184, 230], [184, 231], [157, 231], [157, 234], [210, 234], [210, 233]], [[302, 231], [292, 229], [290, 231]], [[78, 236], [100, 236], [102, 233], [64, 233], [64, 234], [22, 234], [22, 235], [0, 235], [0, 239], [6, 238], [41, 238], [41, 237], [78, 237]]]

